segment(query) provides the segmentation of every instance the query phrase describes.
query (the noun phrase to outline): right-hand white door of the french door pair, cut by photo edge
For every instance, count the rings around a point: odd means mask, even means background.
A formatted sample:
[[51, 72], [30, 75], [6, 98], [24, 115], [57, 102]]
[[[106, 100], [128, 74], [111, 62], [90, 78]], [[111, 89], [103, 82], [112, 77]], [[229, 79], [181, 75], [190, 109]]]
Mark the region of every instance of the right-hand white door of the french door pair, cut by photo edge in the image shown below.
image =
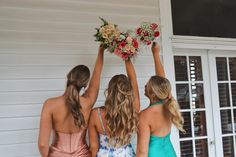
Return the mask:
[[236, 157], [236, 52], [209, 51], [217, 157]]

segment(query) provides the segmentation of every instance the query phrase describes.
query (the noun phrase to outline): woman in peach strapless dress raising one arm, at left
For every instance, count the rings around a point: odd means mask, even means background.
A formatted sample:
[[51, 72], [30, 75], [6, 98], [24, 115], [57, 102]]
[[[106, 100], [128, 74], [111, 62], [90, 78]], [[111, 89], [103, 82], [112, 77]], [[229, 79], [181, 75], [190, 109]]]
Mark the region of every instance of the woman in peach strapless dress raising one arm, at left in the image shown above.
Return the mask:
[[[85, 136], [90, 112], [97, 99], [103, 66], [103, 48], [90, 78], [87, 66], [78, 65], [67, 75], [67, 85], [62, 96], [48, 99], [42, 109], [39, 131], [39, 151], [42, 157], [90, 157]], [[53, 131], [53, 141], [49, 139]]]

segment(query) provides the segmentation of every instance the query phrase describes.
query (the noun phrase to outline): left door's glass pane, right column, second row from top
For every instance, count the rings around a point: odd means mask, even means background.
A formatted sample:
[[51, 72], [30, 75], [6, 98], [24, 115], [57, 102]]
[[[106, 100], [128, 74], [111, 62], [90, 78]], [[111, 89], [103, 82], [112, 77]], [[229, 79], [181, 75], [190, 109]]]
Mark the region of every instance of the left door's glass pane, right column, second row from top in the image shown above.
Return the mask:
[[205, 108], [203, 84], [192, 83], [192, 108]]

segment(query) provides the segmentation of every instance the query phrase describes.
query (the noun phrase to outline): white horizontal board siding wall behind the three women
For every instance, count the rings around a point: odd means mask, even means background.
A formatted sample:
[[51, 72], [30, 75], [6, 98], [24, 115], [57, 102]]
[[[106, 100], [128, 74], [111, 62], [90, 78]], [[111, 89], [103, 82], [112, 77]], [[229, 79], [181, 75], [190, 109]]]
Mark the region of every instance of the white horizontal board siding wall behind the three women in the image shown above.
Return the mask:
[[[77, 64], [92, 71], [98, 43], [98, 17], [123, 30], [142, 21], [159, 21], [158, 0], [0, 0], [0, 156], [38, 157], [37, 137], [42, 103], [63, 93], [65, 76]], [[151, 53], [135, 66], [142, 108], [143, 87], [154, 73]], [[114, 74], [124, 73], [122, 60], [105, 55], [101, 91]]]

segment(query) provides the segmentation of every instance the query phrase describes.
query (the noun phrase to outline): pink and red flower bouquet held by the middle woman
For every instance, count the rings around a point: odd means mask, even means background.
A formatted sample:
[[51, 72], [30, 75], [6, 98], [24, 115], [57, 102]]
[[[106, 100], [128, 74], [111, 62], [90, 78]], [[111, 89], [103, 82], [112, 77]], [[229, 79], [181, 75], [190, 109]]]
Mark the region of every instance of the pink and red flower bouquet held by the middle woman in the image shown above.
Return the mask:
[[121, 33], [119, 38], [112, 42], [109, 51], [127, 60], [137, 55], [138, 46], [137, 39], [131, 37], [128, 33]]

